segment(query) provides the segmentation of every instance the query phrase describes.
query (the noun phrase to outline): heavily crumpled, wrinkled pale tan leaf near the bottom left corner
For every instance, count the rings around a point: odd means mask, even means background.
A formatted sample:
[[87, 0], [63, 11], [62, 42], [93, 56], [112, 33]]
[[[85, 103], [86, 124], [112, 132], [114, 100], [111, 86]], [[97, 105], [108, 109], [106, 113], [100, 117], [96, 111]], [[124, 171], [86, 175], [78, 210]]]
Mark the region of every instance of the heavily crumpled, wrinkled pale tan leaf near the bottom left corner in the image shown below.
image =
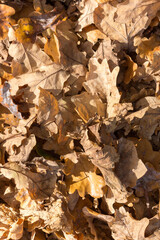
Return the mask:
[[[21, 199], [23, 199], [22, 193], [19, 195]], [[28, 220], [28, 231], [31, 232], [36, 228], [43, 229], [48, 234], [60, 230], [71, 231], [71, 215], [67, 209], [66, 199], [59, 190], [54, 191], [50, 203], [46, 204], [45, 208], [40, 204], [34, 206], [35, 208], [28, 204], [27, 209], [23, 205], [20, 208], [21, 214]]]

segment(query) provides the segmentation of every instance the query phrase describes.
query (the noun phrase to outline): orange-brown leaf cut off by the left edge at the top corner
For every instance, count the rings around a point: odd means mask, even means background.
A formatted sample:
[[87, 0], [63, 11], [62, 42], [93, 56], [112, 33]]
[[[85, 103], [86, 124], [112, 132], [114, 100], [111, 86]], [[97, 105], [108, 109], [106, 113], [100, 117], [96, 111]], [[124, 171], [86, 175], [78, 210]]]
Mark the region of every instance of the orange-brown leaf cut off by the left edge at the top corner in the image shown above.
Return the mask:
[[5, 4], [0, 4], [0, 39], [7, 37], [10, 25], [14, 23], [10, 16], [15, 14], [14, 8]]

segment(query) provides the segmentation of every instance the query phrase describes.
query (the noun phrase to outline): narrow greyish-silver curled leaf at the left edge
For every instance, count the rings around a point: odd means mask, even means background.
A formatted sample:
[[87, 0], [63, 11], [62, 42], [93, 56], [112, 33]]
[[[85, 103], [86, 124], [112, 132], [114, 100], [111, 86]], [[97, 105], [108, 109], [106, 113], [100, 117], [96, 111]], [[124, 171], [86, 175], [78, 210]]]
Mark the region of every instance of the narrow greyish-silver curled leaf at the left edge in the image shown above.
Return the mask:
[[0, 88], [0, 103], [6, 107], [15, 117], [22, 119], [22, 115], [18, 112], [17, 105], [14, 104], [10, 94], [10, 84], [5, 82]]

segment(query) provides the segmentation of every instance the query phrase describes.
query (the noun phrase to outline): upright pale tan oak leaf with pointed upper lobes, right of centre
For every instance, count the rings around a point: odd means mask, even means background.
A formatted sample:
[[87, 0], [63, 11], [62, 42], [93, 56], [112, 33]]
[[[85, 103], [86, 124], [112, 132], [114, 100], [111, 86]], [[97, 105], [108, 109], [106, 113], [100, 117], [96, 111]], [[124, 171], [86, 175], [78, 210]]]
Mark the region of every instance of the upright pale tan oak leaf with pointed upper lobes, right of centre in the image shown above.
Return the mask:
[[86, 91], [92, 95], [98, 95], [107, 102], [108, 117], [114, 117], [114, 105], [120, 101], [120, 93], [117, 88], [117, 76], [119, 67], [111, 72], [106, 59], [100, 64], [96, 58], [89, 61], [89, 72], [86, 75], [86, 82], [83, 83]]

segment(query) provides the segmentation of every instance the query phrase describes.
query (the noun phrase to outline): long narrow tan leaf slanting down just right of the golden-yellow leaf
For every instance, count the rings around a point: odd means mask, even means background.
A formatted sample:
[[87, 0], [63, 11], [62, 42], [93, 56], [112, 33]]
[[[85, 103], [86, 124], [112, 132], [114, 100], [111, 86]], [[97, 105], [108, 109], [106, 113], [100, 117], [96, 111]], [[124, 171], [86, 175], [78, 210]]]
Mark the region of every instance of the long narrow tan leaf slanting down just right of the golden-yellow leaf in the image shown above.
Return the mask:
[[116, 152], [116, 149], [109, 145], [105, 145], [101, 148], [91, 142], [87, 130], [80, 143], [85, 150], [85, 154], [101, 171], [106, 185], [112, 190], [115, 201], [119, 203], [127, 202], [127, 197], [130, 193], [126, 191], [125, 186], [115, 173], [115, 164], [119, 162], [119, 154]]

